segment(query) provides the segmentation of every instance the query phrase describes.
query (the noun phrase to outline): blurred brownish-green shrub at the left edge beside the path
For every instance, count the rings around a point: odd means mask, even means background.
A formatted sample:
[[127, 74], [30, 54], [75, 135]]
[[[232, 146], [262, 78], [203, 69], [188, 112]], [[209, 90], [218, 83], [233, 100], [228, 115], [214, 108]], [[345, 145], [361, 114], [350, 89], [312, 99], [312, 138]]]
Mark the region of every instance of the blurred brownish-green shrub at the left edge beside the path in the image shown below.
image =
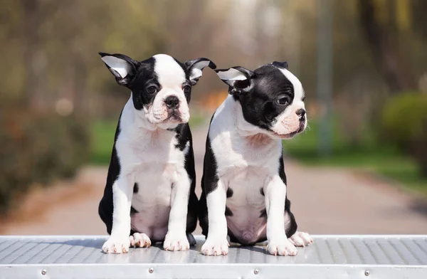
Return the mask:
[[85, 162], [88, 132], [75, 117], [0, 111], [0, 213], [31, 184], [71, 177]]

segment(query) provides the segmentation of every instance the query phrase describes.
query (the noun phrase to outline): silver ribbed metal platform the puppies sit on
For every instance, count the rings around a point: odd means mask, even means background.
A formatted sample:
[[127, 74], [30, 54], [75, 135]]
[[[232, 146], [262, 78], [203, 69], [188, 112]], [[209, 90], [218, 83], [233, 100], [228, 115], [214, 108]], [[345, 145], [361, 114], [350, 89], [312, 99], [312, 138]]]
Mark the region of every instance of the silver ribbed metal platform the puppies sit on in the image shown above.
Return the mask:
[[427, 278], [427, 236], [314, 236], [294, 257], [231, 246], [202, 256], [161, 246], [101, 253], [105, 236], [0, 236], [0, 278]]

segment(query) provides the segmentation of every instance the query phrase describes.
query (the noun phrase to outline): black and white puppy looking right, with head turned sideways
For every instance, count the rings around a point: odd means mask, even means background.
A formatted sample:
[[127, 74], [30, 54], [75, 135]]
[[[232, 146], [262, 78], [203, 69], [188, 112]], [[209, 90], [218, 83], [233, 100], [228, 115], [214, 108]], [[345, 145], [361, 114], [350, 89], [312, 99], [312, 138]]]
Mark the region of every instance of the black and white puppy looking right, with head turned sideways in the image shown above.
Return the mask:
[[205, 255], [226, 255], [232, 242], [268, 240], [273, 255], [296, 255], [295, 246], [312, 242], [297, 231], [286, 194], [282, 139], [305, 130], [300, 80], [288, 63], [255, 71], [216, 70], [229, 85], [228, 98], [211, 119], [206, 140], [199, 221]]

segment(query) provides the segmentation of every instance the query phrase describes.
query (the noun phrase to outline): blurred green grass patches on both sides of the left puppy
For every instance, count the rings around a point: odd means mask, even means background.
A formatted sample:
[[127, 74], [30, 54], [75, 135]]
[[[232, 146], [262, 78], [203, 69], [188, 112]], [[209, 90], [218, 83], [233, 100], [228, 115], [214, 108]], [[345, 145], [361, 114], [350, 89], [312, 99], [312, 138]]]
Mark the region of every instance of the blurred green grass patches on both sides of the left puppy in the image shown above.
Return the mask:
[[[92, 123], [92, 149], [90, 153], [91, 164], [110, 164], [117, 121], [97, 120]], [[193, 114], [191, 115], [189, 125], [191, 128], [194, 128], [201, 125], [204, 121], [206, 121], [205, 117]]]

